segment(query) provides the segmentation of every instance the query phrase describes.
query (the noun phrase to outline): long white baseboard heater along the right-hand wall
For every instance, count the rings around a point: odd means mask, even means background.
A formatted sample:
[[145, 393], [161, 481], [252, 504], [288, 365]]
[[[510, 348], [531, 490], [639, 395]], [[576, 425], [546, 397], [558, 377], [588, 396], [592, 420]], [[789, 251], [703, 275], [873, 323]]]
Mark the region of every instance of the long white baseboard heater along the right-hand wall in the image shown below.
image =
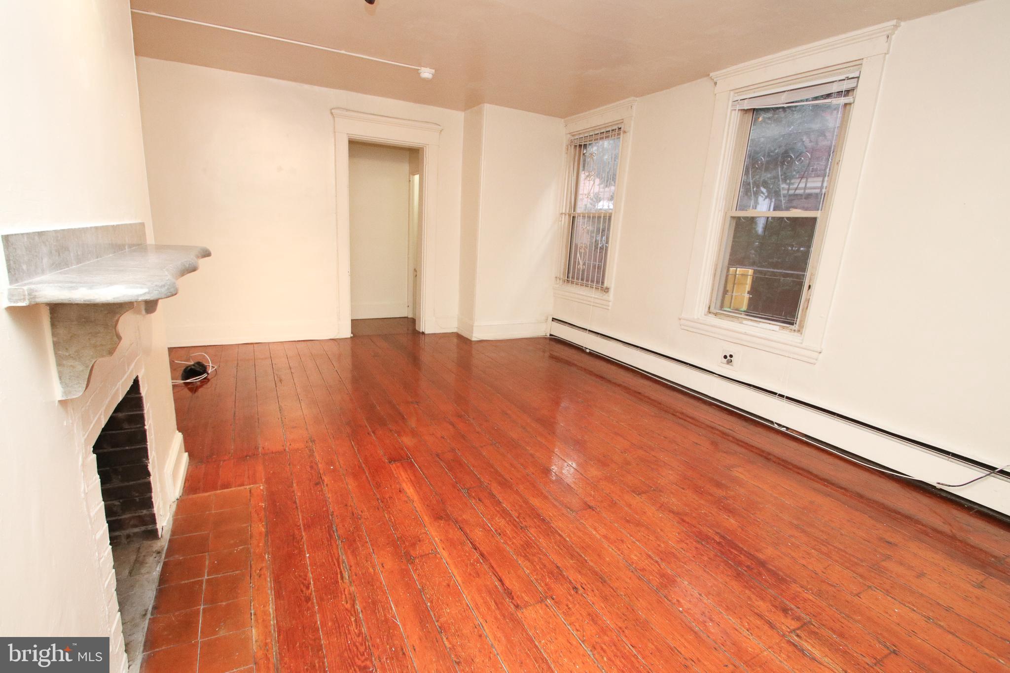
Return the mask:
[[[577, 326], [559, 322], [550, 323], [550, 334], [898, 472], [929, 476], [935, 481], [948, 483], [968, 481], [985, 472], [978, 466], [955, 461], [949, 456], [938, 455], [894, 437], [827, 416], [814, 409], [763, 394], [745, 384], [725, 380], [606, 335], [594, 334]], [[962, 488], [915, 483], [926, 488], [942, 490], [1001, 516], [1010, 515], [1010, 481], [1002, 475], [994, 475]]]

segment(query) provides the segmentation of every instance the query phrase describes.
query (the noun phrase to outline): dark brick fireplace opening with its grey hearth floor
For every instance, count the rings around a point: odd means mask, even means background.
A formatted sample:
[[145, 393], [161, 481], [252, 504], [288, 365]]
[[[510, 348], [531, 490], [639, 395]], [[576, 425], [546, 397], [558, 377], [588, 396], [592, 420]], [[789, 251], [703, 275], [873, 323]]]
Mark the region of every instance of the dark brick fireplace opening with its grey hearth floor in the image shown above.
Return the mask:
[[146, 416], [138, 378], [116, 405], [92, 450], [109, 527], [126, 659], [130, 670], [135, 670], [167, 542], [158, 534]]

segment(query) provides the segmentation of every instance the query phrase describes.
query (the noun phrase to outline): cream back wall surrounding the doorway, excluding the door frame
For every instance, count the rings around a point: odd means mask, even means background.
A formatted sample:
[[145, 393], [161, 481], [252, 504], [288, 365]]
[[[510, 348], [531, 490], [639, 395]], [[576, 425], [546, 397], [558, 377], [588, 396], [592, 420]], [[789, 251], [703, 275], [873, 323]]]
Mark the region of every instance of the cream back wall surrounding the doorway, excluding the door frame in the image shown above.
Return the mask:
[[179, 345], [329, 338], [337, 332], [332, 108], [442, 127], [434, 312], [459, 306], [463, 113], [152, 59], [137, 59], [159, 240], [198, 240], [214, 263], [166, 308]]

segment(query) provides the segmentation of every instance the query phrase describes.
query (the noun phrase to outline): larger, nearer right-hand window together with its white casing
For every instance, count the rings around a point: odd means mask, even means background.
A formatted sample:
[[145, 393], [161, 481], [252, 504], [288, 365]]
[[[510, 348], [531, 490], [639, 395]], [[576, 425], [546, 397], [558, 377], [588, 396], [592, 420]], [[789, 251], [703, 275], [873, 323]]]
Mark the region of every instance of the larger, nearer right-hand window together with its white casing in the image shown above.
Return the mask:
[[816, 362], [897, 22], [733, 66], [712, 132], [680, 326]]

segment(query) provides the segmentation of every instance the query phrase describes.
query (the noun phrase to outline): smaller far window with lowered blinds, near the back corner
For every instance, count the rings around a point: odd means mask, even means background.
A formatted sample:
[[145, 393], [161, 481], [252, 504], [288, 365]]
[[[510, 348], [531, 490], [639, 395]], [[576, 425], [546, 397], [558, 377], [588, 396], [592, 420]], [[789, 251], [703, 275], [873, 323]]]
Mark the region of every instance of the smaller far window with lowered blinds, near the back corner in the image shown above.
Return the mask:
[[608, 292], [607, 254], [614, 219], [621, 127], [569, 141], [569, 184], [562, 213], [562, 275], [570, 285]]

